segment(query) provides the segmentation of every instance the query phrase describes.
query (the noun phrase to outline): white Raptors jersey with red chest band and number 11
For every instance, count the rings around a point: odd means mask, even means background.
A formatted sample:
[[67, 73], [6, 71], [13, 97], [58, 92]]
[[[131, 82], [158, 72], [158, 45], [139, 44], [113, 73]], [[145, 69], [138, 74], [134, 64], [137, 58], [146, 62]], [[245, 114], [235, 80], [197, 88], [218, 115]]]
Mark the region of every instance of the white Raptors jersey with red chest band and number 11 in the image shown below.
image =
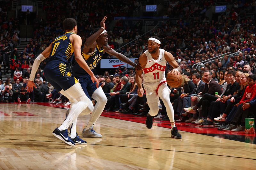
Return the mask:
[[143, 70], [144, 82], [155, 83], [160, 82], [161, 80], [166, 80], [164, 76], [166, 66], [166, 60], [164, 58], [164, 49], [159, 49], [159, 57], [157, 60], [153, 59], [148, 50], [146, 50], [144, 53], [148, 58], [148, 63]]

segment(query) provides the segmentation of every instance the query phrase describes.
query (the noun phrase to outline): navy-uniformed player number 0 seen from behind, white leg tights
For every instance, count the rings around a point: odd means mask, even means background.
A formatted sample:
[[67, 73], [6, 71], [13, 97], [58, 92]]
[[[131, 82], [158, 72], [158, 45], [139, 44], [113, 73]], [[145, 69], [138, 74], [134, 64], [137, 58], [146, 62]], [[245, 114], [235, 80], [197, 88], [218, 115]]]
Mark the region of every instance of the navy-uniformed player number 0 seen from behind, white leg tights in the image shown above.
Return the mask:
[[[28, 91], [33, 90], [36, 70], [40, 62], [49, 57], [49, 62], [44, 68], [44, 76], [55, 89], [66, 96], [72, 103], [69, 115], [60, 127], [52, 132], [52, 135], [62, 140], [65, 144], [75, 146], [76, 144], [86, 144], [86, 141], [77, 136], [76, 121], [78, 115], [89, 105], [90, 99], [85, 95], [80, 83], [68, 69], [73, 53], [76, 62], [88, 73], [94, 85], [98, 86], [99, 82], [81, 55], [82, 39], [76, 34], [76, 20], [73, 18], [65, 19], [63, 27], [65, 33], [56, 37], [50, 46], [36, 57], [27, 86]], [[68, 127], [71, 123], [73, 123], [73, 127], [70, 135], [68, 135]]]

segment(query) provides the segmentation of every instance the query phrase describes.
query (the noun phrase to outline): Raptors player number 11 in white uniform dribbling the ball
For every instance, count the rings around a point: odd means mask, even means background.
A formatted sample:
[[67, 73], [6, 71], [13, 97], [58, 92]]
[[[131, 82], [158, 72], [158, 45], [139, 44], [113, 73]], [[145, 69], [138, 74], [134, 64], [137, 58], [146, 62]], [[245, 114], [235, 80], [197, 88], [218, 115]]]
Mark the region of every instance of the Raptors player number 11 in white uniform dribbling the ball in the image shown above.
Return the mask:
[[[181, 135], [175, 127], [174, 111], [170, 101], [170, 92], [165, 78], [165, 66], [166, 62], [172, 65], [174, 68], [170, 74], [180, 74], [181, 68], [174, 60], [171, 53], [164, 49], [159, 49], [161, 44], [160, 39], [157, 36], [152, 36], [148, 39], [148, 50], [146, 50], [139, 58], [139, 65], [144, 71], [144, 88], [146, 90], [146, 97], [148, 100], [148, 106], [150, 108], [146, 126], [151, 129], [153, 124], [153, 117], [158, 113], [158, 99], [163, 100], [166, 107], [167, 115], [170, 119], [172, 126], [172, 138], [181, 139]], [[142, 97], [144, 90], [141, 85], [142, 70], [136, 72], [136, 83], [138, 85], [138, 96]]]

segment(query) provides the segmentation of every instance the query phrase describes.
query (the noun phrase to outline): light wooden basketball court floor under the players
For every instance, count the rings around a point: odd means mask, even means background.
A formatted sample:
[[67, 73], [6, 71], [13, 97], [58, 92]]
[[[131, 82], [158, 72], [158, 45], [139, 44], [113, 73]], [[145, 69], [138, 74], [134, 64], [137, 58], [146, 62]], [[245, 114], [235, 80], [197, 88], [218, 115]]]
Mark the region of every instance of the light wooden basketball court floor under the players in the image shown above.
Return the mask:
[[[255, 169], [255, 144], [185, 131], [173, 139], [168, 128], [105, 116], [94, 127], [103, 137], [73, 148], [52, 136], [64, 117], [61, 108], [0, 104], [0, 169]], [[78, 118], [78, 135], [89, 117]]]

